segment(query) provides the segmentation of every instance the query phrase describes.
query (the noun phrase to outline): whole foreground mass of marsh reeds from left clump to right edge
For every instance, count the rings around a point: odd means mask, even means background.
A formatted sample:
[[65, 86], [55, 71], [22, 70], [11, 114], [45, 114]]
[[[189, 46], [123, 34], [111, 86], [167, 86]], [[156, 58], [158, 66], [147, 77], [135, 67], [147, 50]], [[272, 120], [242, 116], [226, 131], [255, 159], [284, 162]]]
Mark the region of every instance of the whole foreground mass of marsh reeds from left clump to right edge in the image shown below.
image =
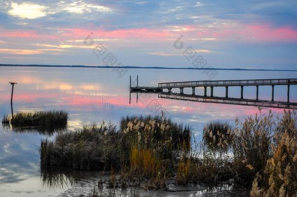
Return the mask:
[[295, 110], [277, 119], [260, 110], [234, 126], [211, 122], [199, 144], [191, 136], [189, 126], [164, 115], [124, 117], [119, 129], [103, 122], [42, 140], [40, 159], [42, 165], [110, 170], [109, 188], [232, 180], [250, 187], [251, 196], [297, 195]]

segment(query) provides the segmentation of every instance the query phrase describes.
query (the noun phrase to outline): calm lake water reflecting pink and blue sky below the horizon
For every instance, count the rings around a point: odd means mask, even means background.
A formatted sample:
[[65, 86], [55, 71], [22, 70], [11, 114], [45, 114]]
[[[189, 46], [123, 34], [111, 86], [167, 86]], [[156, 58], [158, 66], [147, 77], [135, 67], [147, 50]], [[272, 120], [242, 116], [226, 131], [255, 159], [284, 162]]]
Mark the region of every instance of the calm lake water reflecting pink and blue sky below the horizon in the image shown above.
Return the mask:
[[[17, 82], [14, 90], [14, 111], [35, 111], [46, 109], [65, 109], [70, 114], [68, 127], [82, 127], [85, 124], [100, 123], [102, 120], [118, 124], [124, 115], [167, 113], [174, 121], [191, 125], [195, 138], [201, 140], [205, 123], [224, 120], [234, 123], [248, 115], [254, 115], [257, 107], [197, 104], [186, 101], [158, 99], [150, 95], [136, 104], [132, 94], [129, 105], [129, 75], [132, 81], [139, 75], [140, 86], [157, 86], [158, 82], [207, 80], [202, 71], [130, 69], [118, 77], [112, 69], [93, 68], [18, 68], [0, 67], [0, 116], [10, 113], [11, 85]], [[218, 71], [213, 80], [257, 79], [257, 78], [295, 78], [297, 72], [256, 72], [256, 71]], [[229, 88], [230, 97], [240, 97], [240, 88]], [[203, 89], [196, 93], [203, 94]], [[191, 90], [184, 90], [190, 93]], [[245, 88], [245, 98], [255, 98], [255, 88]], [[270, 99], [271, 87], [260, 87], [260, 99]], [[214, 94], [223, 96], [224, 89], [215, 89]], [[286, 87], [275, 87], [275, 100], [286, 100]], [[297, 86], [291, 88], [291, 101], [297, 102]], [[267, 111], [268, 109], [264, 109]], [[276, 115], [282, 109], [273, 109]], [[70, 179], [64, 184], [49, 184], [40, 178], [39, 152], [40, 140], [48, 136], [36, 132], [16, 133], [0, 126], [0, 196], [72, 196], [73, 191], [87, 193], [99, 176], [95, 172], [70, 172]], [[79, 174], [74, 175], [74, 174]], [[69, 173], [68, 173], [69, 174]], [[227, 194], [230, 188], [219, 189], [219, 194]], [[227, 193], [224, 193], [226, 192]], [[231, 191], [232, 192], [232, 191]], [[77, 193], [76, 193], [77, 194]], [[162, 194], [162, 196], [175, 194]], [[207, 196], [209, 193], [191, 192], [184, 196]]]

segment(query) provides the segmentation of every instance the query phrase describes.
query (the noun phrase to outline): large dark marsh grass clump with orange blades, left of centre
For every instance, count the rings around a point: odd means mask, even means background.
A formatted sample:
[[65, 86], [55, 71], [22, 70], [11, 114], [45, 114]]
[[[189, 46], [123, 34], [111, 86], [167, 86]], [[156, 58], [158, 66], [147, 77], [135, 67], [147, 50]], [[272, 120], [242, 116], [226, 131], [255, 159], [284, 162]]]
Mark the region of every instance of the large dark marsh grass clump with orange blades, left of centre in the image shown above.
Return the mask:
[[[183, 146], [180, 145], [184, 144]], [[119, 130], [113, 125], [93, 125], [43, 140], [41, 163], [72, 166], [75, 169], [122, 169], [143, 177], [158, 178], [173, 170], [174, 151], [190, 149], [190, 128], [172, 123], [164, 115], [126, 117]], [[161, 165], [161, 162], [163, 163]], [[160, 175], [158, 175], [160, 177]]]

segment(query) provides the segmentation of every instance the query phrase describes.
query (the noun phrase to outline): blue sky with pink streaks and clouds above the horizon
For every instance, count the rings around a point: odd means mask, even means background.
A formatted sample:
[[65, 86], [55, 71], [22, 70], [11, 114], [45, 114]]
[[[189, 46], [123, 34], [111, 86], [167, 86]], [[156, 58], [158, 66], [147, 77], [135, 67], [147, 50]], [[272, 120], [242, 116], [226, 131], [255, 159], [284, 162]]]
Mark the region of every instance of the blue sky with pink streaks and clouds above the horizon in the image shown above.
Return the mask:
[[297, 1], [1, 0], [0, 64], [297, 69]]

